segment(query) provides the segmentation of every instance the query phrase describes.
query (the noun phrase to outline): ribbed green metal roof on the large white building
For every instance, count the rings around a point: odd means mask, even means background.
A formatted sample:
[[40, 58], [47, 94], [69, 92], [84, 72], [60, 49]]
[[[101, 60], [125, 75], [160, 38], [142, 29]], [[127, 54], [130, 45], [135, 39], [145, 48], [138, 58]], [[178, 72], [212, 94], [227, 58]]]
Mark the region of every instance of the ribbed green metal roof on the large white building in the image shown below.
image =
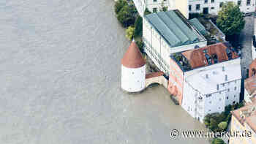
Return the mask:
[[195, 31], [189, 29], [187, 24], [173, 10], [152, 13], [146, 15], [145, 18], [169, 43], [170, 47], [199, 42], [199, 37]]

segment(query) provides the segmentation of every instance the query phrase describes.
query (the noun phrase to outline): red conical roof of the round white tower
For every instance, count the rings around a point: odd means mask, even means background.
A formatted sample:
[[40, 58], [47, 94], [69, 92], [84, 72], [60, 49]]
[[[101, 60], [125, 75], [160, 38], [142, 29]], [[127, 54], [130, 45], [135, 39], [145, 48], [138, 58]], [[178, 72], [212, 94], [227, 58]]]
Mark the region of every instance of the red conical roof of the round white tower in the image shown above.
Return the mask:
[[121, 64], [128, 68], [143, 67], [146, 64], [146, 61], [143, 59], [138, 45], [136, 45], [134, 40], [132, 41], [131, 45], [129, 45], [124, 57], [121, 59]]

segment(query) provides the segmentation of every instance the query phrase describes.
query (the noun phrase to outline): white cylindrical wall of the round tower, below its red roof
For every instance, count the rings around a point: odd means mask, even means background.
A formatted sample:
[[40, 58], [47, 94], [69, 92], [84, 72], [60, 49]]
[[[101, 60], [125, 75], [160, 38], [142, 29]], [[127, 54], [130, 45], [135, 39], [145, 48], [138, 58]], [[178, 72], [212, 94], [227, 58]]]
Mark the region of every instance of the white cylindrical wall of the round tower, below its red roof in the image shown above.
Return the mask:
[[146, 65], [137, 69], [121, 66], [121, 88], [128, 92], [138, 92], [145, 88]]

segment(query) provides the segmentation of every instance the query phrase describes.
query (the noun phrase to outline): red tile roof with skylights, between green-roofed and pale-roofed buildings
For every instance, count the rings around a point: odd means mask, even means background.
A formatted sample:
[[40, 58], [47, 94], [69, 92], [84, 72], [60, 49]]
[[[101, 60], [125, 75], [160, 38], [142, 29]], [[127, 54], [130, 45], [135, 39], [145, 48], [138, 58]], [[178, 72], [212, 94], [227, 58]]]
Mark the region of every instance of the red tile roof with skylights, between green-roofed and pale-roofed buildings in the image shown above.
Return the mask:
[[[212, 58], [214, 54], [217, 55], [218, 63], [228, 60], [226, 49], [227, 49], [226, 45], [224, 45], [223, 43], [217, 43], [215, 45], [208, 45], [203, 48], [187, 50], [182, 54], [189, 61], [191, 68], [195, 69], [197, 67], [205, 67], [208, 65], [208, 61], [206, 59], [205, 53], [203, 52], [204, 50], [208, 50], [208, 52], [206, 53], [208, 54], [208, 56], [211, 56], [211, 63], [214, 64], [214, 58]], [[237, 57], [238, 56], [236, 55], [236, 53], [232, 52], [232, 58], [237, 58]]]

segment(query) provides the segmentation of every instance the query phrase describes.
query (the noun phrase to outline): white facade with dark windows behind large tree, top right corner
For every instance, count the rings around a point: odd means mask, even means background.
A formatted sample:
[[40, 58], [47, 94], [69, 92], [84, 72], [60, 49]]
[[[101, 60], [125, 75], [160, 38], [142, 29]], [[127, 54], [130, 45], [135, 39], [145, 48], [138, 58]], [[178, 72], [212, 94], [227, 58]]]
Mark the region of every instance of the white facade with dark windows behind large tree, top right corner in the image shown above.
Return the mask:
[[[255, 0], [229, 0], [238, 4], [241, 12], [255, 12]], [[227, 0], [189, 0], [189, 13], [217, 15]]]

